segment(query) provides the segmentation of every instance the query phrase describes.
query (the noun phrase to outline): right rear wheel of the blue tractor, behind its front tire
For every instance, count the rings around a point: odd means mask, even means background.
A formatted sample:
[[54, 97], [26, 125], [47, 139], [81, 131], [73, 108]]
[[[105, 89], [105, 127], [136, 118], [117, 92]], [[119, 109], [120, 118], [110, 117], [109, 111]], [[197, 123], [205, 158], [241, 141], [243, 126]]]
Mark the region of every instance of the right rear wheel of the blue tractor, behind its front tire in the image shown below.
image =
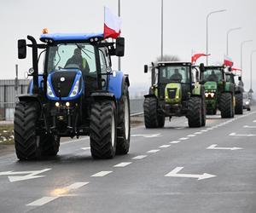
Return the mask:
[[130, 99], [128, 86], [125, 83], [124, 93], [119, 102], [119, 124], [117, 130], [117, 154], [127, 154], [130, 147], [131, 137], [131, 118], [130, 118]]

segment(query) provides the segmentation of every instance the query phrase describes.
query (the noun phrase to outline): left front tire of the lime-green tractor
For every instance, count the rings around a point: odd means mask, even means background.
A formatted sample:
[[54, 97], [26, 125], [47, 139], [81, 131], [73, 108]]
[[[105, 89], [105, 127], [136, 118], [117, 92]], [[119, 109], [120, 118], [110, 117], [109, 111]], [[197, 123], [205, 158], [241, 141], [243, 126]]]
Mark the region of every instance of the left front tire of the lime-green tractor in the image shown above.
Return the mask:
[[154, 97], [146, 97], [143, 104], [144, 121], [146, 128], [158, 127], [157, 99]]

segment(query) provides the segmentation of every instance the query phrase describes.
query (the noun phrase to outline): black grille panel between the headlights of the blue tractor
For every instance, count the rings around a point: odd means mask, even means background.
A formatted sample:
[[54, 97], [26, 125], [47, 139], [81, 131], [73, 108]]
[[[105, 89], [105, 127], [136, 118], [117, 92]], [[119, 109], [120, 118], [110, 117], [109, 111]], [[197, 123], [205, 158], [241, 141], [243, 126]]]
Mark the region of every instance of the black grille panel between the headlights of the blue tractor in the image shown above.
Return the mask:
[[[55, 91], [55, 95], [60, 97], [58, 92], [58, 84], [61, 85], [61, 97], [67, 97], [72, 89], [73, 81], [77, 75], [77, 72], [55, 72], [51, 77], [51, 83], [53, 85], [53, 89]], [[61, 82], [61, 78], [65, 78], [64, 82]]]

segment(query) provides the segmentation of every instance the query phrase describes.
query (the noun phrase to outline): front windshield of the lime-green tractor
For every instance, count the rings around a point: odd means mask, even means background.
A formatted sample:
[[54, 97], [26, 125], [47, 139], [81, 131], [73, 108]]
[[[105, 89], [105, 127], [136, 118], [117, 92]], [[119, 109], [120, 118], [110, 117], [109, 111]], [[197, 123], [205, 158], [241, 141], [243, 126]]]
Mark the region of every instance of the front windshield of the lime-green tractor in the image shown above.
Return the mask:
[[189, 66], [160, 66], [160, 83], [190, 83]]

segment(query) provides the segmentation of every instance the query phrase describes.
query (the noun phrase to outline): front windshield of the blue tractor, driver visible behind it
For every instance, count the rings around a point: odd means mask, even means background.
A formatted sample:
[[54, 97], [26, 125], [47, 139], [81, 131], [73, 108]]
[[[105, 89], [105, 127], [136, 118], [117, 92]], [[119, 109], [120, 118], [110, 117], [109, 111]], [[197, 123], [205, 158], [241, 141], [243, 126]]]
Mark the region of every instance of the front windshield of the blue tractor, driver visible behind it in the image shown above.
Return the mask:
[[96, 73], [95, 48], [88, 43], [61, 43], [49, 47], [47, 72], [79, 69]]

